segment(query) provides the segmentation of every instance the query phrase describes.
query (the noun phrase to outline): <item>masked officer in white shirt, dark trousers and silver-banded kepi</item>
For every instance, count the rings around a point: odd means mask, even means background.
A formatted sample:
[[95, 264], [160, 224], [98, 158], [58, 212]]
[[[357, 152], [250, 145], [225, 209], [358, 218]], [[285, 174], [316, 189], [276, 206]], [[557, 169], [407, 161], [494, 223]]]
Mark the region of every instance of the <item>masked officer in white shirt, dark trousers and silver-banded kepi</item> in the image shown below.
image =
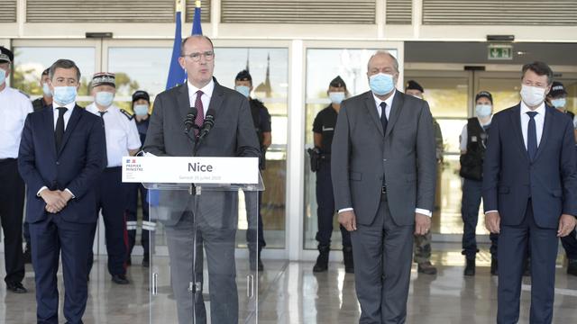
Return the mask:
[[[127, 233], [124, 211], [126, 209], [127, 191], [122, 183], [122, 157], [135, 155], [141, 147], [133, 115], [119, 109], [113, 103], [116, 93], [115, 77], [112, 73], [97, 73], [92, 78], [92, 95], [94, 103], [87, 106], [87, 111], [100, 116], [105, 128], [106, 168], [96, 184], [97, 210], [102, 209], [105, 221], [106, 252], [108, 254], [108, 272], [115, 284], [129, 284], [126, 278], [124, 262], [127, 246], [124, 235]], [[96, 223], [92, 235], [96, 234]], [[88, 259], [88, 269], [92, 267], [92, 253]]]

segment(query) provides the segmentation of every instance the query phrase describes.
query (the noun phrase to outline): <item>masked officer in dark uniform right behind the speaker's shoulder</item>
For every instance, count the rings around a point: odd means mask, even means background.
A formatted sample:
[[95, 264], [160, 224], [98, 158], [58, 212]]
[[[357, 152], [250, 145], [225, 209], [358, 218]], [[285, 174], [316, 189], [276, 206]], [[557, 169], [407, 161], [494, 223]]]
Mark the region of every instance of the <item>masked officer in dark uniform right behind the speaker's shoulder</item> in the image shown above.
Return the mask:
[[[252, 92], [252, 76], [247, 70], [239, 72], [234, 78], [234, 89], [239, 93], [243, 94], [248, 98], [251, 104], [252, 121], [254, 123], [254, 129], [256, 130], [256, 135], [259, 139], [259, 144], [261, 145], [261, 158], [259, 159], [259, 168], [264, 170], [266, 167], [266, 152], [270, 147], [272, 141], [271, 130], [270, 130], [270, 113], [267, 107], [258, 100], [251, 97]], [[264, 240], [264, 230], [262, 226], [262, 215], [261, 215], [261, 200], [262, 192], [258, 192], [258, 202], [254, 202], [255, 193], [244, 193], [245, 204], [250, 210], [253, 205], [257, 205], [258, 214], [258, 238], [255, 239], [254, 226], [249, 224], [249, 229], [246, 231], [246, 240], [249, 246], [249, 254], [251, 260], [251, 269], [254, 270], [256, 267], [259, 271], [262, 271], [263, 265], [261, 261], [261, 251], [263, 247], [266, 247], [267, 243]], [[250, 213], [250, 212], [249, 212]], [[257, 241], [257, 247], [254, 247], [253, 242]], [[258, 250], [258, 251], [257, 251]], [[256, 254], [256, 256], [255, 256]], [[254, 260], [257, 260], [257, 264], [254, 265]]]

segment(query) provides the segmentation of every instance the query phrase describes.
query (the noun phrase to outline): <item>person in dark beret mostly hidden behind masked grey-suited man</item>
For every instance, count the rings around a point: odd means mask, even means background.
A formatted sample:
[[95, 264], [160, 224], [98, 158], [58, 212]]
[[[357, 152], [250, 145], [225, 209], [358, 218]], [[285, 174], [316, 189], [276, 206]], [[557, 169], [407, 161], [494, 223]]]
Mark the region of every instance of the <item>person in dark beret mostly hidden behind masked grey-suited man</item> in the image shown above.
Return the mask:
[[[415, 96], [419, 99], [423, 99], [423, 93], [425, 90], [423, 86], [419, 85], [414, 80], [409, 80], [407, 86], [405, 87], [405, 94]], [[443, 133], [441, 132], [441, 127], [439, 123], [433, 118], [433, 126], [435, 129], [435, 148], [436, 148], [436, 161], [437, 165], [440, 166], [443, 160]], [[438, 184], [437, 184], [438, 185]], [[425, 235], [415, 235], [415, 254], [413, 259], [417, 263], [417, 272], [426, 275], [435, 275], [436, 268], [431, 263], [431, 231], [427, 231]]]

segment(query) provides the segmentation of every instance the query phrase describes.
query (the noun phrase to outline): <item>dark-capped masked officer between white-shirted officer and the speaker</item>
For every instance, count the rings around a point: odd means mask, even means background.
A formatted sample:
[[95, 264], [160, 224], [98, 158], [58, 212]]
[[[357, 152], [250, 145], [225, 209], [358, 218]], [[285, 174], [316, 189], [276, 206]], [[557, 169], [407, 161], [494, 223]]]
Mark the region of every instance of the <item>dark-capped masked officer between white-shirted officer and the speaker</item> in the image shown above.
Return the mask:
[[[148, 123], [151, 115], [149, 110], [151, 108], [151, 97], [146, 91], [138, 90], [133, 93], [133, 112], [134, 121], [136, 121], [136, 129], [140, 136], [141, 143], [146, 139], [146, 131], [148, 130]], [[142, 237], [141, 243], [144, 249], [144, 257], [142, 258], [142, 266], [150, 266], [150, 235], [156, 229], [156, 223], [151, 221], [148, 212], [148, 202], [146, 202], [147, 190], [142, 184], [124, 184], [128, 190], [128, 205], [126, 207], [126, 229], [128, 230], [128, 256], [126, 264], [131, 265], [131, 254], [133, 253], [134, 243], [136, 242], [136, 228], [138, 221], [136, 220], [136, 209], [138, 206], [138, 194], [141, 195], [142, 204]], [[152, 233], [151, 233], [152, 232]]]

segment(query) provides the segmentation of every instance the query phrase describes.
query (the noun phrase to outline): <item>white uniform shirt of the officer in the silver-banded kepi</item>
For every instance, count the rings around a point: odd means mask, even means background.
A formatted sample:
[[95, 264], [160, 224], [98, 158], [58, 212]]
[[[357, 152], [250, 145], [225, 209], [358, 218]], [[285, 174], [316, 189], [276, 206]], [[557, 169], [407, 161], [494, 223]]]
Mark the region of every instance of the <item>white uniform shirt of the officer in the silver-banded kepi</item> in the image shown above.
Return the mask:
[[[87, 106], [87, 112], [100, 117], [96, 103], [90, 103]], [[134, 119], [128, 119], [114, 104], [106, 108], [103, 118], [105, 120], [106, 157], [108, 157], [106, 166], [122, 166], [123, 157], [127, 157], [130, 150], [142, 146], [136, 122]]]

